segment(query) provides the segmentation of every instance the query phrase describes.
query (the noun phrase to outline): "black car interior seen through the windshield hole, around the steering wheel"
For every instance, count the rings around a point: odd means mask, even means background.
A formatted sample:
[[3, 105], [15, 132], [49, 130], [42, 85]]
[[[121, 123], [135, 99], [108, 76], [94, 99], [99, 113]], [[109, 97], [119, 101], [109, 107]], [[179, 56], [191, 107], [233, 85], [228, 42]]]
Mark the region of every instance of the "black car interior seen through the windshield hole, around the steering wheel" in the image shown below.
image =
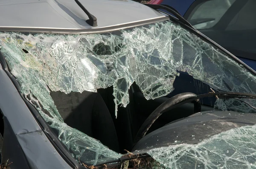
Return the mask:
[[[50, 94], [66, 124], [100, 140], [102, 144], [116, 152], [126, 153], [124, 149], [128, 151], [133, 149], [134, 139], [141, 125], [160, 104], [179, 93], [202, 94], [211, 91], [208, 85], [184, 72], [180, 72], [180, 76], [176, 77], [174, 87], [175, 90], [168, 96], [146, 100], [140, 88], [134, 83], [129, 90], [130, 103], [127, 107], [118, 107], [117, 118], [113, 87], [99, 89], [98, 93], [84, 91], [65, 94], [51, 91]], [[213, 110], [214, 102], [215, 97], [201, 99], [201, 111]], [[176, 107], [163, 113], [147, 133], [193, 113], [193, 103]]]

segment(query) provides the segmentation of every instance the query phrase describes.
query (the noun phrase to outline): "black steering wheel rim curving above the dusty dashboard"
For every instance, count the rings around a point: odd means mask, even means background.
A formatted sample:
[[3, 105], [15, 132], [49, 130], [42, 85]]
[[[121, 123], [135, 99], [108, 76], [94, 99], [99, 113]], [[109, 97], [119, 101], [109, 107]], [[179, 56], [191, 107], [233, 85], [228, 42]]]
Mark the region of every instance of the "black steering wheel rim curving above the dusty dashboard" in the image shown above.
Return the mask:
[[[158, 106], [149, 116], [148, 118], [144, 121], [142, 126], [140, 127], [140, 130], [137, 132], [137, 135], [134, 140], [134, 145], [141, 139], [143, 138], [148, 129], [151, 127], [151, 125], [154, 123], [154, 121], [157, 120], [157, 118], [162, 115], [164, 112], [167, 112], [177, 106], [180, 106], [181, 104], [187, 103], [185, 100], [190, 99], [192, 97], [197, 96], [195, 93], [180, 93], [177, 94], [170, 99], [166, 100], [163, 102], [160, 106]], [[182, 102], [181, 104], [179, 104]], [[201, 103], [199, 99], [196, 99], [195, 101], [192, 101], [194, 103], [194, 113], [201, 112]]]

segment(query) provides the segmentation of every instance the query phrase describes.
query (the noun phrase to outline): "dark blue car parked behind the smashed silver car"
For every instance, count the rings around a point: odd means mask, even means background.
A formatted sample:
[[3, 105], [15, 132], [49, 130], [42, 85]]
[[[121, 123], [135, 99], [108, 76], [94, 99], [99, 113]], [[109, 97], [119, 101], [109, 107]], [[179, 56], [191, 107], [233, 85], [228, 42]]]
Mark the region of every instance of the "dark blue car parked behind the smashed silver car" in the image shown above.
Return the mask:
[[151, 0], [175, 8], [201, 33], [256, 70], [256, 0]]

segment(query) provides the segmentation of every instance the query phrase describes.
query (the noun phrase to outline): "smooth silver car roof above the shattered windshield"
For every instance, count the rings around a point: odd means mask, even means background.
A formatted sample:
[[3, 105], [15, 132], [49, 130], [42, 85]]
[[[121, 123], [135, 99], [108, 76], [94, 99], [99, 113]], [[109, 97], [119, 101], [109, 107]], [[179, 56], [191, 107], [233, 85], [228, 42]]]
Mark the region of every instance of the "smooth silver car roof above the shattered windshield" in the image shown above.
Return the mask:
[[89, 17], [75, 0], [1, 0], [0, 31], [23, 29], [39, 32], [42, 30], [96, 32], [167, 19], [160, 12], [131, 0], [79, 1], [97, 18], [96, 27], [86, 23]]

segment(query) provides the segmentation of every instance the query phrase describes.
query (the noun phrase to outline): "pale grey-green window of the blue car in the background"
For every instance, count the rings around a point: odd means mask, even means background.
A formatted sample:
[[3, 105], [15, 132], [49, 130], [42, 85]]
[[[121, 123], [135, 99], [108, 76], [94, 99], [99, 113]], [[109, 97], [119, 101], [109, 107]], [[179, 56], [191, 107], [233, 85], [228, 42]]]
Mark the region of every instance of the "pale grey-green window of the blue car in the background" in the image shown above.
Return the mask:
[[199, 3], [189, 14], [187, 20], [196, 29], [212, 28], [235, 1], [209, 0]]

